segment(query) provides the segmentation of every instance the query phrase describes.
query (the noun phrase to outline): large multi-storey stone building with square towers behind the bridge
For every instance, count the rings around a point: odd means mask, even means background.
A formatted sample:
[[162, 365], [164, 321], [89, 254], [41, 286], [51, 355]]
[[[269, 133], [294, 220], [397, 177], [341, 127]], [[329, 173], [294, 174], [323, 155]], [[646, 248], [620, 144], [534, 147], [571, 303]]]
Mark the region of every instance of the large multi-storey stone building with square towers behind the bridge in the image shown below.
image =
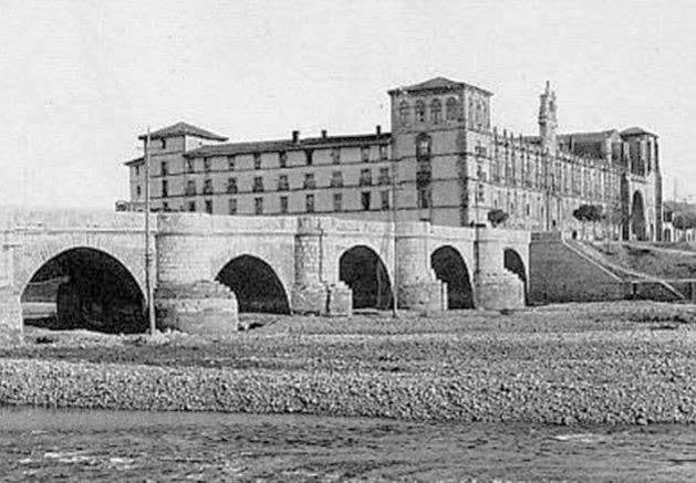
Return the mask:
[[[229, 214], [321, 213], [368, 220], [487, 223], [583, 232], [573, 211], [602, 207], [595, 235], [661, 237], [657, 136], [641, 128], [557, 133], [555, 94], [540, 96], [539, 135], [491, 128], [491, 93], [444, 77], [388, 92], [392, 132], [227, 143], [178, 123], [152, 133], [154, 209]], [[145, 136], [141, 136], [145, 140]], [[144, 159], [127, 161], [131, 203]], [[393, 174], [396, 176], [393, 176]], [[395, 207], [392, 204], [395, 199]], [[124, 207], [124, 204], [122, 204]]]

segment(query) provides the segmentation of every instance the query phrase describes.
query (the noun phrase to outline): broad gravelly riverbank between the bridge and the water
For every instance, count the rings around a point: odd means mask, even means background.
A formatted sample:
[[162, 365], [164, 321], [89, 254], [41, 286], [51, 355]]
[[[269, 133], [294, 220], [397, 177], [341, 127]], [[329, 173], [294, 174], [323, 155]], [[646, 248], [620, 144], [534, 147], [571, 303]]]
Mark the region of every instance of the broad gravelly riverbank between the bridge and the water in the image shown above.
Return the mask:
[[[230, 339], [28, 329], [0, 403], [461, 422], [696, 422], [696, 307], [256, 316]], [[33, 343], [32, 343], [33, 342]], [[40, 343], [37, 343], [40, 342]]]

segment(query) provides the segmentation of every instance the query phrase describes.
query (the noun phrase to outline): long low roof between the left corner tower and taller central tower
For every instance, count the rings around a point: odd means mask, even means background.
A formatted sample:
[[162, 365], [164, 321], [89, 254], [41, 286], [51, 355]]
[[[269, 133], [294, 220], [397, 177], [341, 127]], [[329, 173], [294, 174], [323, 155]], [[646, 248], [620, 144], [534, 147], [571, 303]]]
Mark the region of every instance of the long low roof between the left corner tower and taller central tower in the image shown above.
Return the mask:
[[250, 153], [292, 151], [299, 149], [316, 149], [323, 147], [363, 146], [365, 144], [388, 144], [392, 139], [389, 133], [308, 137], [293, 143], [291, 139], [261, 140], [250, 143], [226, 143], [219, 145], [201, 146], [185, 153], [189, 158], [205, 156], [231, 156]]

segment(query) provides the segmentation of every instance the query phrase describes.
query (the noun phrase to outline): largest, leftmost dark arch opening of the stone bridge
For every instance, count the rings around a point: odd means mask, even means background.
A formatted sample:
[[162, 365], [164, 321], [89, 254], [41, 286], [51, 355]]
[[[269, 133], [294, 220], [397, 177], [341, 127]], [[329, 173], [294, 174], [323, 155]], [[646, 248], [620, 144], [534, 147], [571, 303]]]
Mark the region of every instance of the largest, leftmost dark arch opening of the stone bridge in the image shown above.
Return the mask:
[[134, 276], [96, 249], [53, 256], [33, 274], [20, 300], [27, 325], [111, 334], [147, 330], [144, 296]]

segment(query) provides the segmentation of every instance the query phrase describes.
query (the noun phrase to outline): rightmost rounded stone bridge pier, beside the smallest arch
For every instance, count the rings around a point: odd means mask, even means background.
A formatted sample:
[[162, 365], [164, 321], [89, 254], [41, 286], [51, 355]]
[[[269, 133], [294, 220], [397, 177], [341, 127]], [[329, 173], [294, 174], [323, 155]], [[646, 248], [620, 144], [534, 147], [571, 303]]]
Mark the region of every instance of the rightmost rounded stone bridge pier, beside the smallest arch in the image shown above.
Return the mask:
[[474, 298], [477, 308], [524, 307], [524, 283], [503, 266], [503, 246], [494, 230], [477, 228], [474, 253]]

